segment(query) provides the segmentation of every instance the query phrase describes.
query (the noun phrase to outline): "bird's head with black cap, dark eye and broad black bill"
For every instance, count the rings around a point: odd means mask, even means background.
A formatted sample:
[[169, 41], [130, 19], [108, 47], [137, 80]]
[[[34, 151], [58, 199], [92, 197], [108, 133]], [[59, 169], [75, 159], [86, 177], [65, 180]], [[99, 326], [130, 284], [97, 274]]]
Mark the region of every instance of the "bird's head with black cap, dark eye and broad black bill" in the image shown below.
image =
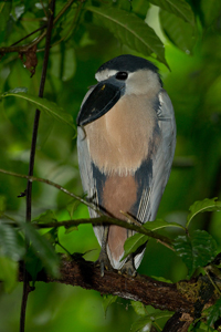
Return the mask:
[[106, 114], [119, 98], [156, 93], [162, 86], [158, 69], [150, 61], [129, 54], [104, 63], [96, 72], [97, 84], [86, 94], [77, 116], [84, 126]]

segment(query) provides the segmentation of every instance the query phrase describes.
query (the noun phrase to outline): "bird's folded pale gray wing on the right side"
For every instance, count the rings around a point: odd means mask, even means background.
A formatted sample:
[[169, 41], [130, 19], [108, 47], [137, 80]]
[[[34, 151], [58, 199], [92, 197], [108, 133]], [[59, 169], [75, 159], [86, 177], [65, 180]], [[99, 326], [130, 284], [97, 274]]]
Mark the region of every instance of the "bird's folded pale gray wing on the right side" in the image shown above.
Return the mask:
[[[157, 152], [151, 158], [151, 176], [149, 186], [144, 187], [137, 219], [141, 222], [152, 221], [156, 218], [157, 210], [165, 187], [167, 185], [176, 147], [176, 121], [171, 101], [165, 90], [159, 92], [159, 107], [157, 110], [158, 126], [161, 133], [161, 141]], [[135, 267], [138, 268], [145, 250], [135, 257]]]

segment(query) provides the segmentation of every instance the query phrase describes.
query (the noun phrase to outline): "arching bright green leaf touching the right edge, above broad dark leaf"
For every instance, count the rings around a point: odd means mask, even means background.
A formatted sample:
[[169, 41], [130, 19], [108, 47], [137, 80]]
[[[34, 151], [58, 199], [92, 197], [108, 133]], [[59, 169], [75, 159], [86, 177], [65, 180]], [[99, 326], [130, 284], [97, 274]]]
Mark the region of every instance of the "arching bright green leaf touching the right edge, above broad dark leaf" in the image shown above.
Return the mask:
[[189, 215], [187, 216], [187, 225], [188, 228], [191, 220], [197, 214], [200, 212], [208, 212], [208, 211], [220, 211], [221, 210], [221, 201], [217, 200], [218, 198], [206, 198], [203, 200], [197, 200], [193, 205], [189, 208]]

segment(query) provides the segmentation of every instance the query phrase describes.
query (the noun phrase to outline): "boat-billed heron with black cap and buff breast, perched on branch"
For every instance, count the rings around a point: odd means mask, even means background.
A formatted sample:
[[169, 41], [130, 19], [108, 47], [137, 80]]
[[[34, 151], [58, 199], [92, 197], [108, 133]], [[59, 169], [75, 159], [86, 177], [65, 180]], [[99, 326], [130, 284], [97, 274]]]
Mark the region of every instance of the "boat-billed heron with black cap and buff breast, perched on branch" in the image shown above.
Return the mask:
[[[77, 116], [77, 149], [83, 189], [97, 209], [143, 224], [156, 218], [168, 181], [176, 122], [158, 69], [149, 61], [120, 55], [104, 63], [98, 83], [85, 95]], [[97, 212], [90, 208], [92, 218]], [[94, 226], [104, 269], [136, 274], [145, 247], [122, 261], [131, 235], [115, 225]]]

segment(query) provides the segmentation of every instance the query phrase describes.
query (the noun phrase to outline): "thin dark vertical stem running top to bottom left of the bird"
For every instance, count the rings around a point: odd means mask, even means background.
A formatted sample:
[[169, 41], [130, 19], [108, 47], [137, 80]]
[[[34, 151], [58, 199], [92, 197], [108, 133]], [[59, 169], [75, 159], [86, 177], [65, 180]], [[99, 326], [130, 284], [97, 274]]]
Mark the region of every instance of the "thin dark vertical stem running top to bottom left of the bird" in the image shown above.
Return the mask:
[[[50, 8], [50, 18], [48, 21], [42, 76], [41, 76], [41, 83], [40, 83], [40, 89], [39, 89], [40, 97], [43, 97], [44, 84], [45, 84], [45, 80], [46, 80], [46, 69], [48, 69], [48, 62], [49, 62], [50, 41], [51, 41], [51, 34], [52, 34], [52, 28], [53, 28], [54, 9], [55, 9], [55, 0], [52, 0], [51, 8]], [[34, 124], [33, 124], [33, 132], [32, 132], [32, 143], [31, 143], [30, 163], [29, 163], [29, 176], [33, 175], [33, 169], [34, 169], [34, 157], [35, 157], [35, 149], [36, 149], [39, 121], [40, 121], [40, 111], [36, 110], [35, 117], [34, 117]], [[32, 200], [31, 198], [32, 198], [32, 181], [29, 180], [28, 185], [27, 185], [27, 222], [31, 221], [31, 200]], [[27, 240], [27, 248], [28, 247], [29, 247], [29, 242]], [[23, 264], [23, 280], [24, 281], [23, 281], [21, 314], [20, 314], [20, 332], [24, 332], [27, 302], [28, 302], [29, 292], [31, 291], [31, 288], [29, 284], [28, 272], [25, 270], [25, 263]]]

